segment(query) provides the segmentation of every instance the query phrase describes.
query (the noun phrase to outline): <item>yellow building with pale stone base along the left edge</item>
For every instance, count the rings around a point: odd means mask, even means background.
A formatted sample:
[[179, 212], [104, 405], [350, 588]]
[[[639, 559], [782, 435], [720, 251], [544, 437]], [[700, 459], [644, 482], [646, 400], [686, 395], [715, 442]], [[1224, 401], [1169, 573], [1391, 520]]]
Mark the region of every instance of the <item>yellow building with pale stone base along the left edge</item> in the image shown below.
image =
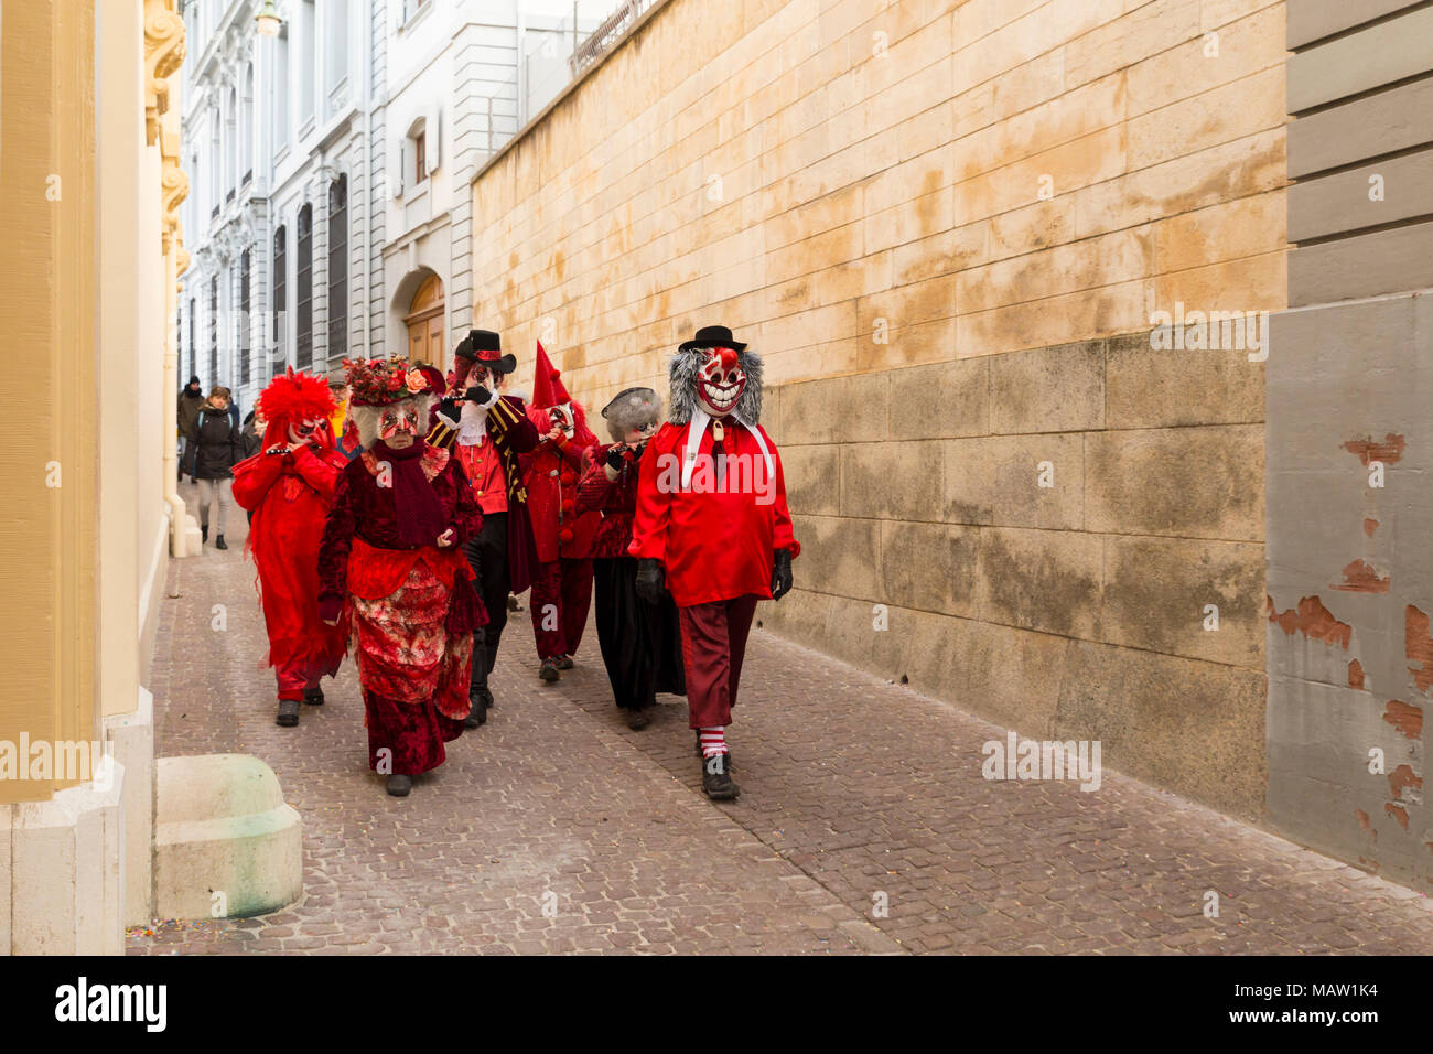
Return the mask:
[[183, 54], [173, 0], [29, 0], [0, 23], [0, 951], [118, 954], [150, 918], [143, 685], [189, 528], [173, 460]]

